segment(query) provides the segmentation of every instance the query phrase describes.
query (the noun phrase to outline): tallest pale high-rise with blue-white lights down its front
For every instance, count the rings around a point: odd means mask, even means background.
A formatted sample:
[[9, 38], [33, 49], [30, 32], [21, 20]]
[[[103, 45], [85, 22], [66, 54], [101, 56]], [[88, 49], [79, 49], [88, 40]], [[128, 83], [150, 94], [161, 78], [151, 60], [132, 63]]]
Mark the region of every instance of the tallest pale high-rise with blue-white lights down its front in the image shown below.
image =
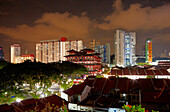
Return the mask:
[[115, 63], [118, 66], [135, 65], [136, 33], [116, 30]]

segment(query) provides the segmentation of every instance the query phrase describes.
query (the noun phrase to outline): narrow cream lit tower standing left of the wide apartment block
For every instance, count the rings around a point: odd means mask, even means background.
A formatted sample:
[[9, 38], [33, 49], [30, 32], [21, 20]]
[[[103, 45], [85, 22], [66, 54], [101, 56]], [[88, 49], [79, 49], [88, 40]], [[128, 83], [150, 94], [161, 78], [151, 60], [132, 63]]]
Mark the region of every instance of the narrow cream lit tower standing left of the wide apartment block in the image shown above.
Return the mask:
[[19, 44], [11, 45], [11, 63], [20, 63], [21, 47]]

